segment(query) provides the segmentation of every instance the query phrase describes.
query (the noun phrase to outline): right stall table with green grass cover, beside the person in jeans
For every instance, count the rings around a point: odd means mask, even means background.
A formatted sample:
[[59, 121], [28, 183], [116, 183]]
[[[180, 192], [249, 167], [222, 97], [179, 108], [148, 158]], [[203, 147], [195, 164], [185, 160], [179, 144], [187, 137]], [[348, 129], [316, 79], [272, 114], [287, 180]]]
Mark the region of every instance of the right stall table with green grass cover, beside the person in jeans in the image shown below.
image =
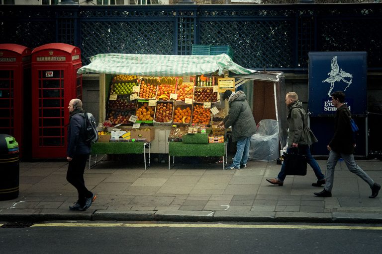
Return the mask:
[[[175, 156], [192, 156], [192, 157], [223, 157], [223, 169], [227, 162], [227, 142], [224, 143], [208, 143], [208, 144], [185, 144], [183, 142], [169, 142], [169, 169], [170, 160], [173, 156], [173, 166]], [[224, 161], [225, 156], [225, 161]]]

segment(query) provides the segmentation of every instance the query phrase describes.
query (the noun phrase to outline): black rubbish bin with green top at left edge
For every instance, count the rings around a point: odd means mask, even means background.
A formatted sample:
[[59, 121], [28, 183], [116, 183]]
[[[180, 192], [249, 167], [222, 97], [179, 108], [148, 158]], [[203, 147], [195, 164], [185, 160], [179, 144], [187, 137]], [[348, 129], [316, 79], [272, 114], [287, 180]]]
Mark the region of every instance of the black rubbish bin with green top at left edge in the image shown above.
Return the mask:
[[0, 200], [18, 197], [19, 163], [16, 139], [0, 134]]

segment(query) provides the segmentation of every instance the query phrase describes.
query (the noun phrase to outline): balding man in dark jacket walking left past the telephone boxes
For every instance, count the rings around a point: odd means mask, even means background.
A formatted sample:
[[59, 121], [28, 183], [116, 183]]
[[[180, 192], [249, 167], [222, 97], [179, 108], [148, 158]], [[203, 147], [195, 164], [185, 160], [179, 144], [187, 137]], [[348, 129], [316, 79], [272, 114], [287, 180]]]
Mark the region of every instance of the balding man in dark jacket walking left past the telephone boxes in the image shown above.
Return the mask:
[[69, 206], [72, 211], [85, 211], [93, 203], [96, 195], [85, 186], [84, 172], [91, 152], [91, 143], [86, 141], [87, 121], [80, 99], [69, 102], [70, 121], [68, 127], [67, 160], [69, 161], [66, 179], [78, 191], [78, 200]]

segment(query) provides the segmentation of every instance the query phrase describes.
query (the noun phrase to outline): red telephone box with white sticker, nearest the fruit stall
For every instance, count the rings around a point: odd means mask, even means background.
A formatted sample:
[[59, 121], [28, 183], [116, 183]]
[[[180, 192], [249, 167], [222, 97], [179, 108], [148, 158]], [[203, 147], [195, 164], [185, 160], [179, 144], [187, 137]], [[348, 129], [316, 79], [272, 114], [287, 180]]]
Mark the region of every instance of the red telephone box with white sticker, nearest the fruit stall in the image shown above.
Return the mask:
[[82, 99], [80, 49], [50, 43], [32, 51], [32, 158], [66, 158], [69, 102]]

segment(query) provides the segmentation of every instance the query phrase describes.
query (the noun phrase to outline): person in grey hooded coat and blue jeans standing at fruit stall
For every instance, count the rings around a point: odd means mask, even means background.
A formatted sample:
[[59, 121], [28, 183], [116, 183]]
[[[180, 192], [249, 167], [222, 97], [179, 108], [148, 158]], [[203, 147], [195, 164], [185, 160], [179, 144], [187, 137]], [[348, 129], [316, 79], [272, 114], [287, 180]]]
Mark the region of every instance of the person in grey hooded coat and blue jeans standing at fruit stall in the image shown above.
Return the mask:
[[232, 165], [227, 166], [227, 170], [238, 170], [247, 167], [249, 156], [249, 144], [251, 136], [255, 134], [257, 127], [253, 118], [251, 108], [246, 100], [243, 91], [233, 93], [226, 90], [223, 94], [223, 100], [228, 99], [229, 113], [218, 127], [232, 128], [232, 142], [237, 141], [236, 154]]

